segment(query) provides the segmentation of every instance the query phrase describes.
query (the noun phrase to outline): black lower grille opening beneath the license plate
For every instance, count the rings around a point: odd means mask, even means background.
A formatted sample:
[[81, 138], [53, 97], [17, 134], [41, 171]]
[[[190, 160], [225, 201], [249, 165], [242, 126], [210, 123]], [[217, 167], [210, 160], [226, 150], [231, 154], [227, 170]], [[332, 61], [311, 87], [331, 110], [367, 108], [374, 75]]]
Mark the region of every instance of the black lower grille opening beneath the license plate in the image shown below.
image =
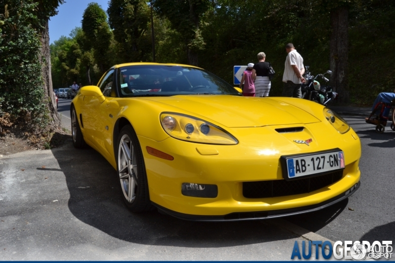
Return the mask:
[[324, 188], [343, 177], [343, 171], [336, 171], [316, 177], [298, 180], [267, 180], [243, 182], [243, 196], [246, 198], [267, 198], [309, 193]]

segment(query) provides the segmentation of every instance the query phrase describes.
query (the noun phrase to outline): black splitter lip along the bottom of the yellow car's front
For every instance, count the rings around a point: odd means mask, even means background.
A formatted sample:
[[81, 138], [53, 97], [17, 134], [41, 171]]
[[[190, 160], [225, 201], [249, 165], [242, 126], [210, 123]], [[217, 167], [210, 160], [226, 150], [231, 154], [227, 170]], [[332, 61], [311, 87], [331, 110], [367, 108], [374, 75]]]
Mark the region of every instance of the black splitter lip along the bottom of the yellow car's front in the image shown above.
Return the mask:
[[361, 186], [361, 182], [357, 182], [352, 188], [350, 188], [346, 192], [341, 193], [336, 197], [333, 197], [327, 201], [324, 201], [316, 205], [308, 205], [305, 207], [296, 207], [296, 208], [271, 210], [271, 211], [230, 213], [224, 216], [200, 216], [200, 215], [192, 215], [192, 214], [183, 214], [162, 207], [154, 202], [152, 202], [152, 205], [157, 207], [165, 214], [189, 221], [225, 222], [225, 221], [263, 220], [263, 219], [278, 218], [283, 216], [293, 216], [297, 214], [304, 214], [304, 213], [314, 212], [324, 209], [326, 207], [334, 205], [335, 203], [339, 203], [340, 201], [350, 197], [353, 193], [355, 193], [355, 191], [359, 188], [359, 186]]

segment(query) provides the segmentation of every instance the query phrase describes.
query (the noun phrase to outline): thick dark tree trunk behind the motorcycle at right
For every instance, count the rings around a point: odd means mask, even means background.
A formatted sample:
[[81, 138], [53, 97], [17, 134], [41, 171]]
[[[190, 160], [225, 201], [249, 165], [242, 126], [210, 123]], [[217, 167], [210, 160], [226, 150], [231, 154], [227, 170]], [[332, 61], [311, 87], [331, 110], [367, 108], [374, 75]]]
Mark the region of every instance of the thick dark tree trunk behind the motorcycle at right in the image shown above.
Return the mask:
[[348, 103], [348, 8], [331, 11], [332, 34], [330, 39], [330, 69], [333, 90], [339, 93], [339, 101]]

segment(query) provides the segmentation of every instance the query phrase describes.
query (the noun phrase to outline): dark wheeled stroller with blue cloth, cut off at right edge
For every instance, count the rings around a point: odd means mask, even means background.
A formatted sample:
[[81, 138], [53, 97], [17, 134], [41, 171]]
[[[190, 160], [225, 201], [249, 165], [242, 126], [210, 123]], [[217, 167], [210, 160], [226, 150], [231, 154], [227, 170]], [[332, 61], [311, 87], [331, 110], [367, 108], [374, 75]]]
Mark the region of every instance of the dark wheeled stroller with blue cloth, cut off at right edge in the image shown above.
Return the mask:
[[[383, 133], [386, 130], [389, 112], [392, 111], [391, 130], [395, 131], [395, 99], [391, 103], [379, 102], [374, 106], [374, 109], [367, 118], [366, 122], [376, 125], [376, 132]], [[376, 117], [373, 117], [376, 115]], [[373, 118], [372, 118], [373, 117]]]

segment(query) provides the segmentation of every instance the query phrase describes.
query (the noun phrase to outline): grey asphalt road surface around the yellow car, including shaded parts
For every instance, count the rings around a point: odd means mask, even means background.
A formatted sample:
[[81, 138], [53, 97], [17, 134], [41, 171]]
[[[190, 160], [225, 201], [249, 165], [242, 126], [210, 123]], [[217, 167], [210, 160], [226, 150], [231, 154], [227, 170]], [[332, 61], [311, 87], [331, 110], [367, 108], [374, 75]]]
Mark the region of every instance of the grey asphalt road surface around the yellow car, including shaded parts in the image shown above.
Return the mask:
[[[59, 100], [60, 113], [70, 114], [68, 107], [70, 100]], [[395, 132], [377, 134], [360, 116], [345, 119], [361, 138], [361, 187], [332, 207], [286, 220], [333, 241], [395, 240]], [[117, 184], [100, 154], [75, 150], [71, 140], [0, 158], [0, 260], [289, 260], [294, 241], [305, 240], [273, 220], [132, 214]]]

